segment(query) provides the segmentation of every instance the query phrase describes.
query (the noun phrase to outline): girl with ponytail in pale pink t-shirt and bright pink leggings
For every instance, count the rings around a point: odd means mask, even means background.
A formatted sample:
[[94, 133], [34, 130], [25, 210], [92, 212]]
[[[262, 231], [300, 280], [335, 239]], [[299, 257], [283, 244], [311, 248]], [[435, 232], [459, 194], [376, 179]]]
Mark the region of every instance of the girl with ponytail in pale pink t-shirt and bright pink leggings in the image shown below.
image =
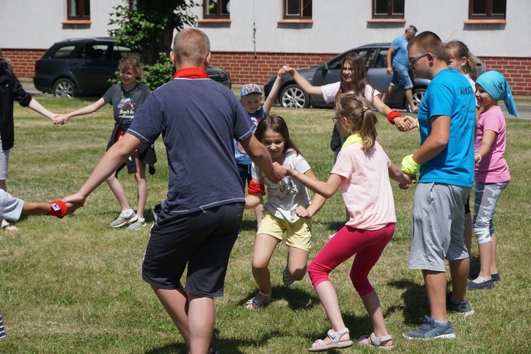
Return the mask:
[[346, 225], [309, 264], [309, 277], [332, 328], [327, 338], [316, 340], [308, 350], [319, 352], [353, 345], [341, 316], [336, 290], [329, 280], [329, 273], [353, 255], [356, 256], [350, 268], [350, 280], [367, 309], [374, 330], [362, 336], [358, 343], [391, 349], [393, 338], [387, 333], [378, 295], [367, 275], [394, 234], [396, 216], [389, 177], [398, 181], [401, 188], [409, 188], [412, 181], [389, 161], [376, 142], [377, 118], [360, 93], [342, 93], [336, 101], [336, 116], [332, 119], [346, 141], [329, 180], [316, 181], [295, 169], [287, 169], [288, 176], [297, 178], [324, 198], [331, 198], [341, 187], [349, 216]]

